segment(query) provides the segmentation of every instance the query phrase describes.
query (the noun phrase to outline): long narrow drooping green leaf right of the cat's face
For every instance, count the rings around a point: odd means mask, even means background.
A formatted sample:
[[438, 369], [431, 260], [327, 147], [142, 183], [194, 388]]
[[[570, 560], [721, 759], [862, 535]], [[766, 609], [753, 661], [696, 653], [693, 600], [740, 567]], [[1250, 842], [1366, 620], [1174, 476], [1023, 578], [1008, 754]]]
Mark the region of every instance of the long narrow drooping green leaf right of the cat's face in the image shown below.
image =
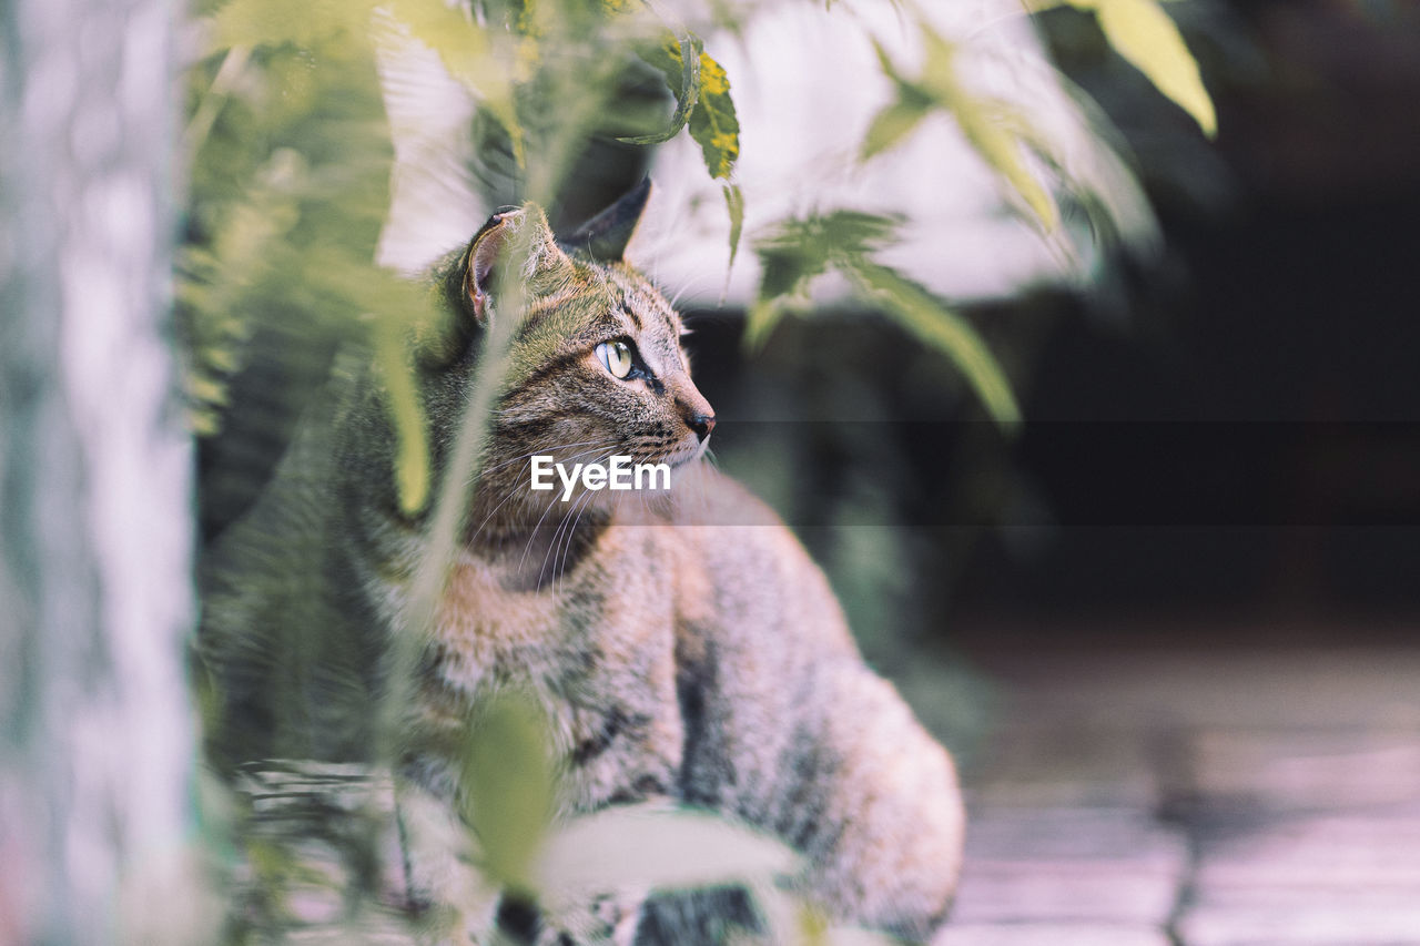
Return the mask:
[[1005, 371], [971, 322], [939, 303], [923, 286], [890, 267], [856, 261], [846, 271], [873, 298], [883, 303], [888, 314], [903, 328], [957, 364], [987, 413], [1001, 428], [1010, 430], [1020, 423], [1021, 409], [1011, 393]]

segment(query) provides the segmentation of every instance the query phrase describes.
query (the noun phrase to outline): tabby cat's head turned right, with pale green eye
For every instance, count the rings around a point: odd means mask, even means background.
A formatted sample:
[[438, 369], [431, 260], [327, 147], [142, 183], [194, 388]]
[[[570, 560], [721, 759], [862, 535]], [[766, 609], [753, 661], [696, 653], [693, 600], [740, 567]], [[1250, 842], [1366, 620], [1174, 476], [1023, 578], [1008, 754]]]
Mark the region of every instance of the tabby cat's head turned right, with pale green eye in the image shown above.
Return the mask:
[[[676, 469], [704, 452], [714, 411], [690, 379], [680, 317], [621, 260], [646, 190], [565, 243], [535, 205], [496, 213], [446, 267], [457, 341], [426, 365], [436, 449], [447, 450], [462, 425], [481, 339], [500, 330], [510, 338], [474, 520], [559, 518], [569, 506], [562, 483], [552, 476], [554, 490], [532, 490], [534, 457], [568, 470], [612, 457]], [[578, 486], [571, 503], [595, 509], [629, 499], [589, 491]]]

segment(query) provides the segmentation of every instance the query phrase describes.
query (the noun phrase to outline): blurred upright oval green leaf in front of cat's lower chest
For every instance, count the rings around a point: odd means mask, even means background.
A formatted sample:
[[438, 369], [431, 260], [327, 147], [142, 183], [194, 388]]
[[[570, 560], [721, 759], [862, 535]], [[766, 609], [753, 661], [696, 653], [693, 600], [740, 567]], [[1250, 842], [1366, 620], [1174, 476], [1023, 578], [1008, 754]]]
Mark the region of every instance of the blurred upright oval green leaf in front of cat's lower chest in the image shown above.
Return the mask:
[[537, 891], [535, 865], [552, 815], [548, 722], [531, 699], [503, 696], [474, 720], [463, 766], [463, 814], [488, 876]]

